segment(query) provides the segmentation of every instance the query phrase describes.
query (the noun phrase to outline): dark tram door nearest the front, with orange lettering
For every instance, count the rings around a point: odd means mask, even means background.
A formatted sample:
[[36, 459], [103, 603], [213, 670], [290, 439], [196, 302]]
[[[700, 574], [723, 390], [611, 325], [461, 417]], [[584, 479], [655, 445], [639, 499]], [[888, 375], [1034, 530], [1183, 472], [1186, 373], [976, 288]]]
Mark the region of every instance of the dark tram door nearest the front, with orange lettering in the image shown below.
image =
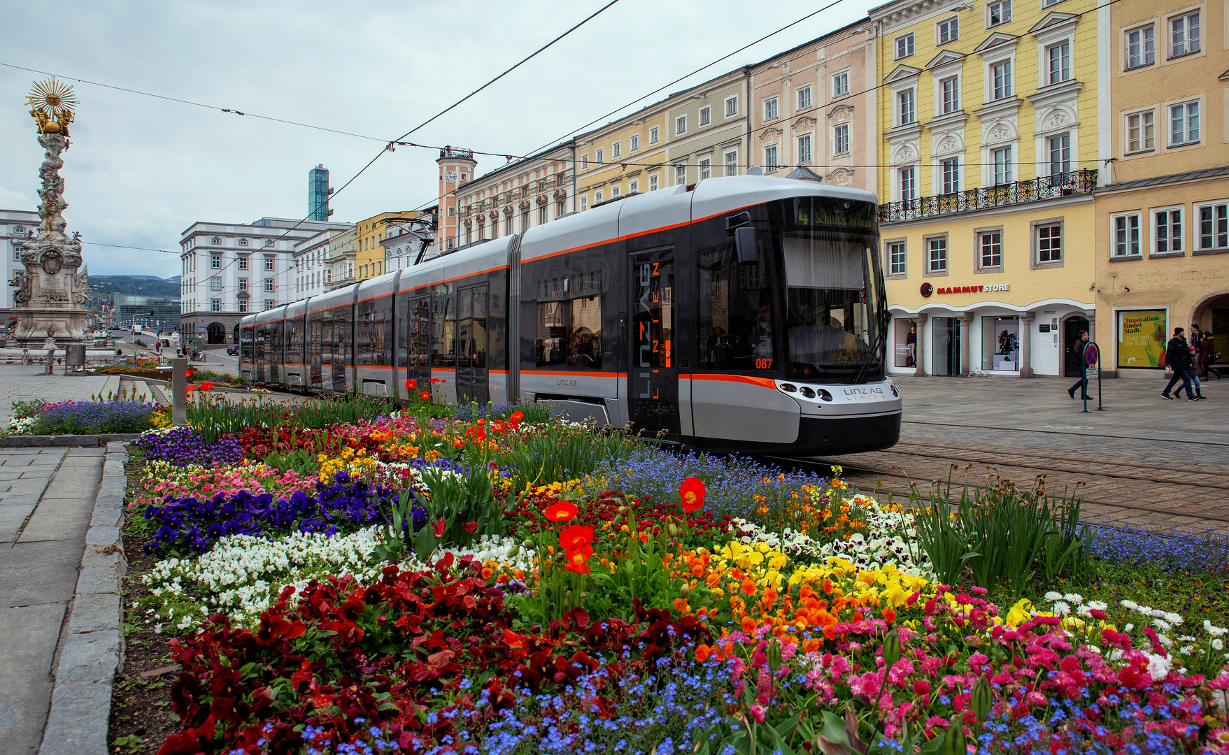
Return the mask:
[[632, 257], [632, 356], [628, 399], [633, 431], [678, 436], [675, 339], [675, 268], [671, 250]]

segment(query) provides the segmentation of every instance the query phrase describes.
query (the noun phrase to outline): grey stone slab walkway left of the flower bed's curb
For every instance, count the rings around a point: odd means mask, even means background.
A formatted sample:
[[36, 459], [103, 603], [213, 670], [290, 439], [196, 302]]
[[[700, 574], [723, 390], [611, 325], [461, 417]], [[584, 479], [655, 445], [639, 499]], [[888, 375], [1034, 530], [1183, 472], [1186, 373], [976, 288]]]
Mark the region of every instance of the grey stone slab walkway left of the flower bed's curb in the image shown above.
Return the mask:
[[104, 453], [0, 449], [0, 751], [6, 754], [38, 751]]

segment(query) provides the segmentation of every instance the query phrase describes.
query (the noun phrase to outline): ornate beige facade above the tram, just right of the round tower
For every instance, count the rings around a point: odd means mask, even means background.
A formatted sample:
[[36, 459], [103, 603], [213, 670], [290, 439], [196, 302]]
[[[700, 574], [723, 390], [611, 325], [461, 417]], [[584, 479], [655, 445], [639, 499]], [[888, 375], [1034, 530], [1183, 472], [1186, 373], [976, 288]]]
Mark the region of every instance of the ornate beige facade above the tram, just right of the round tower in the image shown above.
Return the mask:
[[[567, 141], [458, 187], [455, 190], [458, 236], [455, 244], [449, 244], [450, 238], [444, 237], [441, 253], [455, 246], [524, 233], [571, 212], [574, 155], [573, 142]], [[446, 209], [441, 203], [441, 236], [452, 227], [442, 214]]]

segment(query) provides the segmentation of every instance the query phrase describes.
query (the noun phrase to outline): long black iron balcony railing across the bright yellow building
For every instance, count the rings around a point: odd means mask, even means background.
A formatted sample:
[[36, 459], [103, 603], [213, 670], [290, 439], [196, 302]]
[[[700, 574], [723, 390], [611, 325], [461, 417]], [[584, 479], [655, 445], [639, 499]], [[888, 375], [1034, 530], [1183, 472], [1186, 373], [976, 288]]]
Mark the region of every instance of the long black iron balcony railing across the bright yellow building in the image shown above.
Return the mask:
[[1032, 180], [966, 189], [952, 194], [921, 196], [906, 201], [879, 205], [879, 222], [895, 223], [930, 217], [949, 217], [1031, 201], [1059, 199], [1096, 190], [1096, 171], [1072, 171], [1057, 176], [1041, 176]]

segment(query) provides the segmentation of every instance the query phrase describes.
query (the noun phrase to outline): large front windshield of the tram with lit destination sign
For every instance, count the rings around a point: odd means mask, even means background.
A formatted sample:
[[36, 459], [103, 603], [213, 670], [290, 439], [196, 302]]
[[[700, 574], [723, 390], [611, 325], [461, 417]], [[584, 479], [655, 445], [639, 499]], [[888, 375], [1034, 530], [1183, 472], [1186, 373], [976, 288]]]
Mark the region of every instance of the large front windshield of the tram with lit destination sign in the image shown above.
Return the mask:
[[846, 382], [881, 376], [875, 206], [820, 196], [783, 204], [787, 374]]

